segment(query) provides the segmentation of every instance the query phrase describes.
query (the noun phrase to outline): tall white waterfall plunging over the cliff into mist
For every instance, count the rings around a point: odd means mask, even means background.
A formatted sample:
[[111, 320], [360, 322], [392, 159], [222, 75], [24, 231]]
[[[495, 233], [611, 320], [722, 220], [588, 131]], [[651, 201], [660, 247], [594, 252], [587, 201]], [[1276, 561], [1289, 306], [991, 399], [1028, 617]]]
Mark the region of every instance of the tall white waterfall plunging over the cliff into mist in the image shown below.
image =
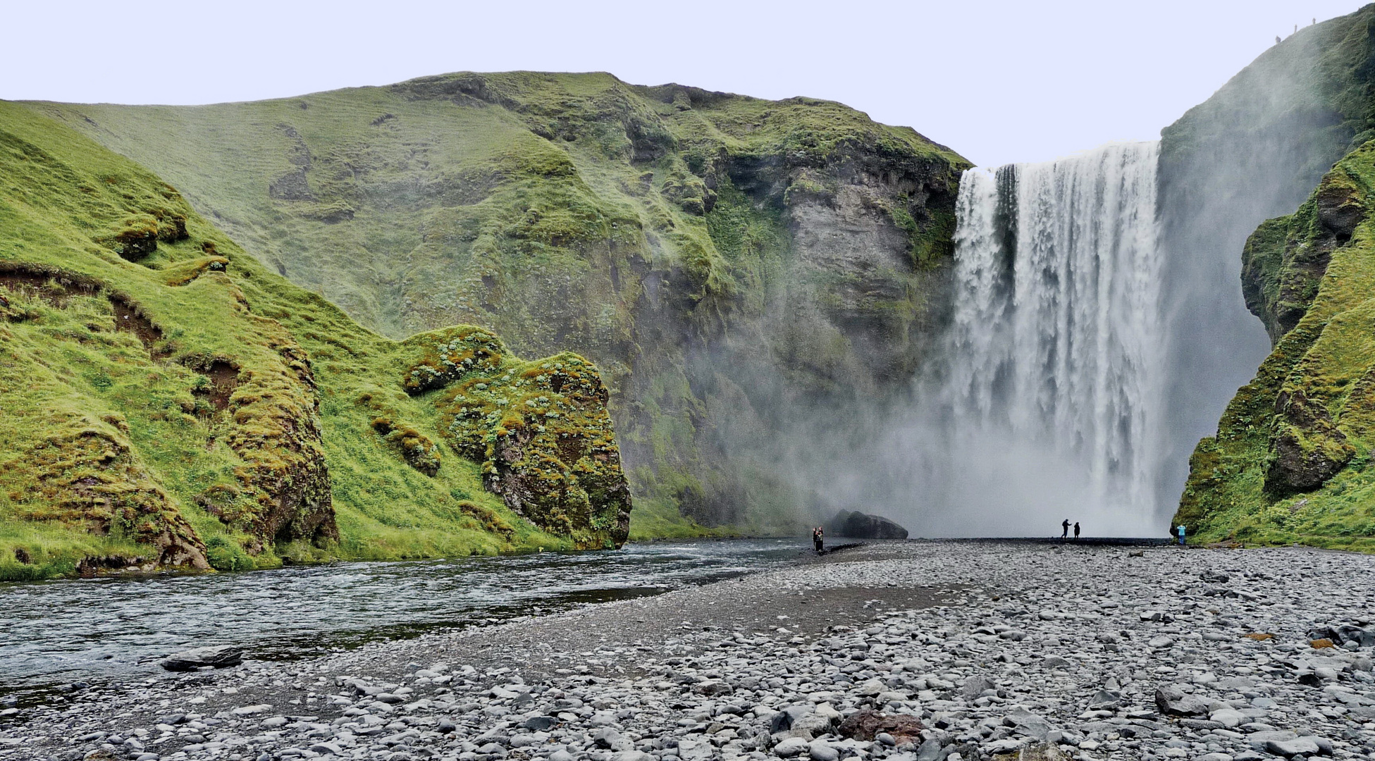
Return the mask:
[[1166, 387], [1158, 143], [960, 181], [954, 313], [914, 445], [934, 533], [1154, 532]]

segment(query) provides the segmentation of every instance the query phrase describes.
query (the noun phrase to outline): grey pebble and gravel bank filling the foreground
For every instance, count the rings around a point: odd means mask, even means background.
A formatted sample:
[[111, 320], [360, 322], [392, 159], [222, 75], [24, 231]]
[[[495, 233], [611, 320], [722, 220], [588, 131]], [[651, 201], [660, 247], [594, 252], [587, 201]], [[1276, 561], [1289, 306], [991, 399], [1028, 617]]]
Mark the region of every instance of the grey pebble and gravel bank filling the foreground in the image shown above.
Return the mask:
[[1372, 563], [879, 544], [657, 598], [0, 706], [0, 758], [1370, 758]]

